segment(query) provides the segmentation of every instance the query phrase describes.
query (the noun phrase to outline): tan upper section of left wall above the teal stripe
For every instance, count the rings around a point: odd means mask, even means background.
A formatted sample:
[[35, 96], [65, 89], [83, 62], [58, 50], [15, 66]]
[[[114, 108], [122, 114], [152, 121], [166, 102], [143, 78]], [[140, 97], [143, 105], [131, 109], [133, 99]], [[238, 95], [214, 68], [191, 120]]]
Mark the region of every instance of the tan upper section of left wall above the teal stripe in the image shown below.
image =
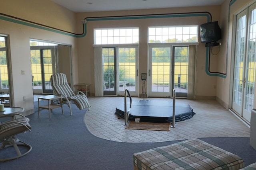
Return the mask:
[[76, 32], [74, 12], [50, 0], [1, 0], [1, 13]]

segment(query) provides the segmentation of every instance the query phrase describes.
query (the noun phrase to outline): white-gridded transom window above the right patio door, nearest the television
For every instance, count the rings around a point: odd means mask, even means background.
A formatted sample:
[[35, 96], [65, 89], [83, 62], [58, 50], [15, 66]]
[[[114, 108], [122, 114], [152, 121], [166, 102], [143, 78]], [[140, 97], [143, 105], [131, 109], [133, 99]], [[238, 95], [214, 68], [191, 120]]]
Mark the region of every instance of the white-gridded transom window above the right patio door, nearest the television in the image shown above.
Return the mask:
[[198, 42], [198, 26], [148, 27], [148, 43]]

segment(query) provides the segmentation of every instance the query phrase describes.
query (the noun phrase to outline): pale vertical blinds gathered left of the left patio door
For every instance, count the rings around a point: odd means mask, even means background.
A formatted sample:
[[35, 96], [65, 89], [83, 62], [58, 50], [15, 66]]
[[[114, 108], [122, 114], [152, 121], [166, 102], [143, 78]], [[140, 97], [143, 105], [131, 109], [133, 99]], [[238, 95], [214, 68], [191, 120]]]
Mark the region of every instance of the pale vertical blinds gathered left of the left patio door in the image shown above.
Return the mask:
[[103, 97], [102, 47], [94, 47], [95, 96]]

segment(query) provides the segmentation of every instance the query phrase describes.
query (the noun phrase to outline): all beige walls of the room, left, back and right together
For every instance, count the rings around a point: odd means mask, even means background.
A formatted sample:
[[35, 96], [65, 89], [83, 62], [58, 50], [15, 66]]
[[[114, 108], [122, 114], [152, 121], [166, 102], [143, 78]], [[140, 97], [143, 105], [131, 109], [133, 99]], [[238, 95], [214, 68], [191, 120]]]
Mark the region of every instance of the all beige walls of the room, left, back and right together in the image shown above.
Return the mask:
[[[71, 33], [82, 33], [83, 27], [81, 20], [87, 17], [98, 16], [124, 16], [124, 15], [149, 15], [149, 14], [174, 14], [209, 12], [212, 21], [219, 21], [222, 28], [222, 45], [218, 55], [211, 56], [210, 71], [226, 72], [225, 77], [212, 76], [206, 71], [206, 47], [204, 43], [199, 43], [196, 56], [196, 98], [215, 98], [228, 107], [230, 102], [230, 75], [231, 75], [231, 37], [232, 37], [232, 16], [243, 8], [250, 0], [236, 0], [231, 6], [230, 29], [228, 30], [228, 8], [230, 0], [226, 0], [222, 6], [203, 6], [191, 8], [165, 8], [151, 10], [128, 10], [112, 12], [89, 12], [73, 13], [66, 8], [58, 6], [50, 0], [2, 0], [0, 11], [3, 14], [18, 17], [23, 20], [32, 21], [42, 25], [54, 27]], [[2, 17], [2, 15], [1, 15]], [[70, 34], [56, 33], [55, 31], [37, 28], [25, 23], [6, 21], [0, 18], [0, 34], [9, 35], [10, 53], [12, 66], [12, 81], [14, 91], [14, 106], [24, 107], [26, 111], [32, 111], [33, 95], [30, 68], [30, 45], [29, 39], [41, 39], [53, 41], [64, 45], [72, 45], [72, 74], [73, 83], [90, 83], [91, 92], [94, 90], [94, 53], [93, 53], [93, 29], [106, 27], [139, 27], [140, 28], [140, 47], [139, 47], [139, 70], [147, 72], [147, 28], [148, 26], [164, 25], [200, 25], [206, 23], [206, 17], [173, 17], [161, 19], [130, 19], [130, 20], [109, 20], [109, 21], [88, 21], [86, 23], [86, 35], [75, 38]], [[227, 39], [229, 33], [229, 39]], [[200, 36], [200, 35], [198, 35]], [[199, 38], [200, 41], [200, 38]], [[227, 53], [228, 47], [228, 53]], [[213, 52], [218, 51], [214, 47]], [[226, 56], [228, 54], [228, 67], [226, 68]], [[21, 70], [26, 74], [21, 75]], [[141, 81], [140, 81], [141, 87]], [[139, 88], [141, 90], [141, 88]], [[26, 101], [23, 101], [26, 96]]]

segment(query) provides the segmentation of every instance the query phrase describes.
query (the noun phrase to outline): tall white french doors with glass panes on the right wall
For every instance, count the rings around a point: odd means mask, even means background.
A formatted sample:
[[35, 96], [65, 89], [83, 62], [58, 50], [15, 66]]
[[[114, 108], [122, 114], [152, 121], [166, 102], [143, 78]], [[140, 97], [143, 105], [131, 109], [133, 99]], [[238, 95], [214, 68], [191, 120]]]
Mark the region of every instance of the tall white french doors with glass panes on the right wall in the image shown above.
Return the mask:
[[256, 76], [256, 5], [236, 17], [232, 109], [250, 122]]

